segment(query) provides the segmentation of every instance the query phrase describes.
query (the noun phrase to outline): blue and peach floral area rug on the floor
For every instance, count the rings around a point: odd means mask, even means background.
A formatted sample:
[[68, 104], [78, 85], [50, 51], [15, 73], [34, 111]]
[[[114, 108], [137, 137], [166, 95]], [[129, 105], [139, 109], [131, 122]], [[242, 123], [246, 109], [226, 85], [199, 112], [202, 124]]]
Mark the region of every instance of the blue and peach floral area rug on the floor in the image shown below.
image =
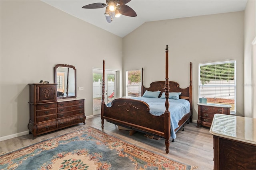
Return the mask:
[[93, 127], [0, 155], [1, 170], [191, 170]]

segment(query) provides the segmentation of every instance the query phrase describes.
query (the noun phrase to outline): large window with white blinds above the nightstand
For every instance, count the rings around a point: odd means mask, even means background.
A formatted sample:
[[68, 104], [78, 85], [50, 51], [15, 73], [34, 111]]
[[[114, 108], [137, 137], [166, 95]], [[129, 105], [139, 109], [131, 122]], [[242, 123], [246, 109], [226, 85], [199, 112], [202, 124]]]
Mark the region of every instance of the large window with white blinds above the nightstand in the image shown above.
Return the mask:
[[199, 98], [207, 103], [228, 104], [236, 113], [236, 61], [199, 64]]

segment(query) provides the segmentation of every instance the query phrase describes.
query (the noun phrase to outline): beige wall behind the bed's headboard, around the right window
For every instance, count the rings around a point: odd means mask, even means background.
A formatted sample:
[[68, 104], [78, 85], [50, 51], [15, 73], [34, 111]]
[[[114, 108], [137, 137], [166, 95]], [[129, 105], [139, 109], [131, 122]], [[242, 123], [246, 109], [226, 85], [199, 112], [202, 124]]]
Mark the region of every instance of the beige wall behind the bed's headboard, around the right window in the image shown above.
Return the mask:
[[123, 74], [143, 67], [144, 86], [164, 80], [165, 45], [169, 45], [169, 79], [182, 88], [189, 86], [192, 62], [193, 121], [198, 119], [198, 63], [236, 59], [237, 115], [244, 115], [243, 11], [146, 22], [123, 43]]

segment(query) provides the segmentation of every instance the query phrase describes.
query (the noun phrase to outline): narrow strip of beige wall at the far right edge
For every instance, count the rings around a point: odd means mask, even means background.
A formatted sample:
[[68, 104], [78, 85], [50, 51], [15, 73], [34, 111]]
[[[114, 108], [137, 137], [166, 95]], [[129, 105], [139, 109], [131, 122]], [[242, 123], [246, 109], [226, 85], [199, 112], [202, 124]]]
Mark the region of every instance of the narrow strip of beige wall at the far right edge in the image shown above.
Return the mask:
[[[244, 116], [256, 117], [253, 107], [256, 107], [256, 100], [252, 100], [252, 70], [256, 64], [252, 65], [252, 41], [255, 38], [255, 0], [248, 0], [244, 11]], [[255, 59], [255, 54], [254, 54]], [[254, 75], [255, 80], [255, 75]], [[254, 84], [255, 88], [255, 84]], [[254, 89], [256, 90], [256, 89]], [[255, 96], [254, 96], [255, 98]], [[254, 114], [254, 116], [253, 116]]]

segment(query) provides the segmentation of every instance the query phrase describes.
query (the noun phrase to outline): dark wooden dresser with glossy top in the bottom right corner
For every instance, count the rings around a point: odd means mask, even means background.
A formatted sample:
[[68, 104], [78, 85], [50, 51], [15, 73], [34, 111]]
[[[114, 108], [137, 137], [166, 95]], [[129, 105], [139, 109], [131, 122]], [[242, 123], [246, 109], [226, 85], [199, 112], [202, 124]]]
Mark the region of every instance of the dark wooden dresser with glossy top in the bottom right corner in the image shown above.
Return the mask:
[[215, 114], [213, 135], [214, 170], [255, 170], [256, 119]]

